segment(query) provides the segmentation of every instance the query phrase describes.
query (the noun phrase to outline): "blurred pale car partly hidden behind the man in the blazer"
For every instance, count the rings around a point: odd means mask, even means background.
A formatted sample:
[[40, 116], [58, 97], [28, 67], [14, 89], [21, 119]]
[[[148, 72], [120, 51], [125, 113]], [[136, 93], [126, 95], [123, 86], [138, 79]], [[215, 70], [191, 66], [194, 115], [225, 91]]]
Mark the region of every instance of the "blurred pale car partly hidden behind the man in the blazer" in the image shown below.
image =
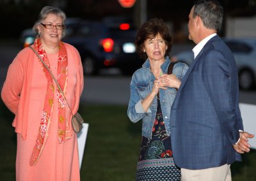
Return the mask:
[[[224, 39], [233, 52], [239, 76], [239, 87], [249, 90], [255, 87], [256, 80], [256, 39]], [[192, 51], [184, 51], [172, 57], [173, 61], [190, 64], [194, 55]]]

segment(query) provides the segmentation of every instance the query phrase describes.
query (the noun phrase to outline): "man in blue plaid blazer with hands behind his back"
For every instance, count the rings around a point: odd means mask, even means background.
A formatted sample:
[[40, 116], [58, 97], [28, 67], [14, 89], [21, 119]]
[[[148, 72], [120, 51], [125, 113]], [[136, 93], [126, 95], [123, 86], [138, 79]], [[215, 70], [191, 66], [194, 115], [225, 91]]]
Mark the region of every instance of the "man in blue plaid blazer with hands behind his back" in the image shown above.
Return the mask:
[[196, 1], [189, 13], [195, 59], [170, 115], [173, 158], [182, 180], [231, 180], [230, 164], [250, 150], [247, 138], [253, 135], [243, 133], [236, 62], [216, 34], [222, 20], [218, 1]]

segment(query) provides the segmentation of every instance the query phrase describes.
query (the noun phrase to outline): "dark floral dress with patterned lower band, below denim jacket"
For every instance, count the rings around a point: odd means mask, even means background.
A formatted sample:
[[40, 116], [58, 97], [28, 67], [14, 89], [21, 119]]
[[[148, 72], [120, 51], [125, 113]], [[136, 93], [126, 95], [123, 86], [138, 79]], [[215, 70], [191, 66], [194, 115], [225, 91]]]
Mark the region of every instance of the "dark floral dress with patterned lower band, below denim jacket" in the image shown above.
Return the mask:
[[136, 180], [180, 180], [180, 176], [180, 169], [173, 161], [170, 136], [166, 133], [158, 103], [152, 139], [142, 137]]

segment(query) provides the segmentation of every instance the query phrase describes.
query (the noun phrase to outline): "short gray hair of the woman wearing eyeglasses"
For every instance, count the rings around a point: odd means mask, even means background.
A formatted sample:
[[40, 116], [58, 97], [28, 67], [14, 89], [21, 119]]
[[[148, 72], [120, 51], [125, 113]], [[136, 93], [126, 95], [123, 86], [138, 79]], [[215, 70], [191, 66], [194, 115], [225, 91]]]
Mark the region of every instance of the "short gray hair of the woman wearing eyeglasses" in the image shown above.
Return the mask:
[[[45, 6], [44, 8], [42, 8], [40, 14], [38, 15], [38, 20], [33, 25], [33, 31], [35, 31], [36, 33], [36, 38], [40, 37], [40, 33], [37, 29], [38, 25], [40, 25], [42, 20], [45, 20], [45, 18], [49, 14], [54, 14], [61, 17], [62, 24], [65, 25], [66, 15], [60, 8]], [[61, 38], [63, 38], [64, 36], [65, 36], [65, 29], [62, 30]]]

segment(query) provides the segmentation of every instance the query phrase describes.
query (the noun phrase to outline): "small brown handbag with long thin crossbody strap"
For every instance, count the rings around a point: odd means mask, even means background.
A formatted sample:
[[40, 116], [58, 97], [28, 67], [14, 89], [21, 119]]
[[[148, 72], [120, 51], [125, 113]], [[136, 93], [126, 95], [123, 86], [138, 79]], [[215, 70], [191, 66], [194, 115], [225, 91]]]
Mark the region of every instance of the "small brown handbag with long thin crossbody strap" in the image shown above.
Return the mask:
[[56, 80], [56, 78], [54, 77], [54, 75], [52, 74], [51, 70], [48, 68], [48, 66], [45, 64], [45, 62], [41, 59], [41, 57], [38, 55], [38, 53], [36, 52], [36, 50], [29, 46], [29, 48], [31, 48], [31, 50], [33, 50], [33, 52], [35, 52], [36, 56], [38, 57], [38, 59], [40, 59], [40, 61], [42, 61], [42, 63], [44, 64], [45, 68], [47, 68], [47, 70], [49, 71], [49, 73], [51, 73], [51, 76], [53, 78], [53, 80], [56, 82], [56, 85], [58, 86], [58, 88], [60, 89], [60, 92], [62, 94], [62, 96], [65, 98], [65, 101], [67, 102], [68, 108], [70, 109], [70, 113], [72, 114], [72, 119], [71, 119], [71, 123], [72, 123], [72, 127], [74, 129], [74, 131], [76, 133], [79, 133], [81, 131], [81, 129], [83, 128], [83, 118], [81, 117], [81, 115], [77, 112], [75, 115], [72, 113], [72, 110], [70, 108], [70, 105], [68, 104], [68, 101], [64, 95], [64, 92], [62, 91], [60, 84], [58, 83], [58, 81]]

